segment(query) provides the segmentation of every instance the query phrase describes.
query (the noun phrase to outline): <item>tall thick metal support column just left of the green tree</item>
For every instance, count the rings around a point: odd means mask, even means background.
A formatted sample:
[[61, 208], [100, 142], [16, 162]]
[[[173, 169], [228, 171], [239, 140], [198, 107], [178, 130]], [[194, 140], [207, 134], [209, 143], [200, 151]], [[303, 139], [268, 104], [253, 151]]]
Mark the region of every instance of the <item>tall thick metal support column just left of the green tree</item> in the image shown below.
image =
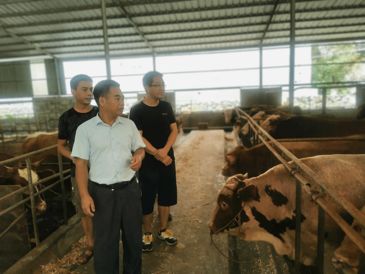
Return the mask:
[[294, 106], [295, 0], [290, 3], [289, 109]]

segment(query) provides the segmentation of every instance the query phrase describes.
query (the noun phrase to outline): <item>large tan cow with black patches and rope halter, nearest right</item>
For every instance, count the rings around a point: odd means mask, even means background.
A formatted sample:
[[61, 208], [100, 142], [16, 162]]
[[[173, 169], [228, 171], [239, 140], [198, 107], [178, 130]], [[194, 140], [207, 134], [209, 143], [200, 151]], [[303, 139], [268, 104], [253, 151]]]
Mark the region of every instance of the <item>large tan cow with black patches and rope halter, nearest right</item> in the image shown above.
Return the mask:
[[[365, 205], [365, 155], [320, 155], [301, 161], [356, 208], [361, 209]], [[295, 167], [292, 162], [289, 164]], [[320, 190], [316, 183], [309, 181], [312, 190]], [[266, 241], [273, 244], [278, 254], [294, 259], [295, 189], [296, 179], [283, 165], [251, 179], [247, 174], [228, 178], [218, 194], [209, 222], [211, 233], [240, 235], [246, 241]], [[325, 195], [324, 199], [337, 213], [346, 216], [342, 207], [329, 195]], [[316, 258], [318, 206], [304, 190], [301, 210], [300, 262], [312, 265]], [[325, 231], [331, 236], [338, 233], [338, 226], [327, 215]], [[328, 238], [331, 239], [331, 236]]]

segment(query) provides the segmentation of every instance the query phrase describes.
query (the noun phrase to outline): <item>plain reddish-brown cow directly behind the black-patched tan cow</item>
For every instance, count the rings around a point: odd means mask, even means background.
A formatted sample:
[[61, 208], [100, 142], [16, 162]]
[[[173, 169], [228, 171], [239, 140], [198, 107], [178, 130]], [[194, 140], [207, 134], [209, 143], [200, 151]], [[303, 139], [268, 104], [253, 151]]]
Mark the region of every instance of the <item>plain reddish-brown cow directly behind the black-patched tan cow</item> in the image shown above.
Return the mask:
[[[362, 137], [362, 135], [357, 135]], [[365, 136], [364, 136], [365, 138]], [[271, 144], [271, 142], [269, 142]], [[365, 153], [365, 141], [315, 141], [315, 142], [280, 142], [288, 151], [297, 158], [312, 157], [329, 154], [362, 154]], [[273, 147], [280, 155], [276, 146]], [[286, 160], [289, 160], [284, 155]], [[222, 175], [233, 176], [235, 174], [248, 173], [250, 177], [258, 176], [269, 168], [279, 164], [264, 144], [255, 145], [252, 148], [236, 146], [225, 155], [226, 163], [222, 167]]]

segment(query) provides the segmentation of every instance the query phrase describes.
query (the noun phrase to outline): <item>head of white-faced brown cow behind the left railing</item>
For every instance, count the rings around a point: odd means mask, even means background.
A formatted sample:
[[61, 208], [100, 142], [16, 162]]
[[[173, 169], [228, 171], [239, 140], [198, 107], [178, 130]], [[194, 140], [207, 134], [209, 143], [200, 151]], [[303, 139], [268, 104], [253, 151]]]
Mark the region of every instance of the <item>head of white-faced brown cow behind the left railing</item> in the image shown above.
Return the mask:
[[[8, 159], [3, 159], [3, 161]], [[42, 163], [42, 161], [43, 160], [40, 160], [31, 164], [31, 176], [33, 183], [54, 174], [54, 172], [51, 170], [35, 171], [35, 168], [37, 168]], [[19, 164], [18, 166], [12, 164], [12, 167], [3, 165], [1, 170], [4, 171], [1, 174], [1, 185], [18, 184], [21, 187], [28, 186], [28, 173], [26, 167], [20, 167]], [[34, 193], [37, 193], [39, 191], [38, 186], [34, 186], [33, 191]], [[29, 190], [26, 190], [24, 193], [29, 195]], [[39, 195], [35, 197], [35, 207], [39, 212], [47, 209], [46, 202], [43, 201]]]

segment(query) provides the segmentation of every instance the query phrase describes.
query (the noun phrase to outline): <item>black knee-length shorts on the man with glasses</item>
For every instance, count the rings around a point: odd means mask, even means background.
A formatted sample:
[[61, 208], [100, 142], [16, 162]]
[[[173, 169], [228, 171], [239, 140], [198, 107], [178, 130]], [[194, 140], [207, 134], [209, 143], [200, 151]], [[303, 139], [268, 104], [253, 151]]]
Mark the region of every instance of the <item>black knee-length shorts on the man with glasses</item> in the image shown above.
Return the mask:
[[142, 166], [138, 171], [138, 180], [142, 189], [142, 214], [153, 212], [157, 195], [159, 206], [173, 206], [177, 203], [175, 161], [167, 167]]

